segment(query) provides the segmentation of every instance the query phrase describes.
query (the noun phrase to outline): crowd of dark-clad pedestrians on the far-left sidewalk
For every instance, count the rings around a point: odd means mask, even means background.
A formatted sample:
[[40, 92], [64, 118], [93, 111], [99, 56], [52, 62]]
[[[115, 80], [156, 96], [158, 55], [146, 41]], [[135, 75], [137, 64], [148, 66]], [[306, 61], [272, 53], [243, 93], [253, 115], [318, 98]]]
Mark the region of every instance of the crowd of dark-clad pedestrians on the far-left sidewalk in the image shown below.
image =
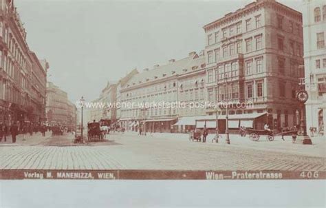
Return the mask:
[[30, 134], [30, 136], [36, 134], [37, 132], [41, 132], [42, 136], [45, 136], [45, 132], [47, 131], [47, 127], [45, 125], [33, 125], [32, 123], [19, 125], [18, 123], [12, 123], [10, 127], [5, 123], [0, 123], [0, 142], [7, 141], [7, 137], [11, 135], [12, 143], [16, 143], [17, 135], [23, 134], [23, 141], [26, 140], [26, 134]]

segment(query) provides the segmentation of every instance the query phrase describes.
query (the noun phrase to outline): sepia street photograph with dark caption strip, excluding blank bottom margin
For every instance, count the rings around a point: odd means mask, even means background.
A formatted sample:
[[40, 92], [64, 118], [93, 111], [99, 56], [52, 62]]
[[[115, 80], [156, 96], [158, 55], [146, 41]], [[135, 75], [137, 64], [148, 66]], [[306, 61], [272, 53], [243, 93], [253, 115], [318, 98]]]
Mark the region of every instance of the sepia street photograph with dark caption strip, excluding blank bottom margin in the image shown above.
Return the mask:
[[325, 195], [325, 39], [325, 0], [0, 0], [0, 183]]

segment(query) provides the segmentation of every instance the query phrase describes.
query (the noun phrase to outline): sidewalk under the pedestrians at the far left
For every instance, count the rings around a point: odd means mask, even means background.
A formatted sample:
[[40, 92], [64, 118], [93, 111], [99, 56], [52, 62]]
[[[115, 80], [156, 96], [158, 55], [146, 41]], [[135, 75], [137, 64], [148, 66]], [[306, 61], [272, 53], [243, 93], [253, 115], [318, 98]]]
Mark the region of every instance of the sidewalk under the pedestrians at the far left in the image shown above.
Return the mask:
[[45, 132], [45, 136], [42, 136], [41, 132], [33, 133], [32, 136], [30, 134], [26, 134], [25, 141], [23, 140], [23, 134], [17, 135], [16, 143], [12, 143], [12, 137], [11, 135], [7, 136], [7, 141], [4, 141], [4, 138], [2, 138], [2, 141], [0, 142], [0, 146], [22, 146], [22, 145], [38, 145], [39, 143], [45, 141], [47, 138], [50, 138], [52, 136], [52, 132]]

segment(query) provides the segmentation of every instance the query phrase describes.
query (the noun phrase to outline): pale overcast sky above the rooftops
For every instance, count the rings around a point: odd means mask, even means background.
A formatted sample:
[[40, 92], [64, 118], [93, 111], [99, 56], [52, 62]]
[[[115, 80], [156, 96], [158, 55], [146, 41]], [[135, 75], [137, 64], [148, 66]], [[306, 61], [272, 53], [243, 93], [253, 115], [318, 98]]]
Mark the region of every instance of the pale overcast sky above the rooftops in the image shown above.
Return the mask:
[[[16, 0], [30, 50], [71, 101], [107, 81], [204, 49], [203, 25], [252, 1]], [[279, 0], [301, 11], [302, 0]]]

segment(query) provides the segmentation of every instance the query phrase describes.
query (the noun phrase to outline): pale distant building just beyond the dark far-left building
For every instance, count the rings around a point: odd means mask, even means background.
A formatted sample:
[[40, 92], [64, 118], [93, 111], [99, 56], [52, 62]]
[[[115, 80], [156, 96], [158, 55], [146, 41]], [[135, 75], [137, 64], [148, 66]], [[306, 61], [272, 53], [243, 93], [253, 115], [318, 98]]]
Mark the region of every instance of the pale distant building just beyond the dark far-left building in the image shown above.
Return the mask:
[[76, 125], [76, 107], [68, 100], [67, 92], [51, 82], [47, 82], [46, 115], [49, 125]]

